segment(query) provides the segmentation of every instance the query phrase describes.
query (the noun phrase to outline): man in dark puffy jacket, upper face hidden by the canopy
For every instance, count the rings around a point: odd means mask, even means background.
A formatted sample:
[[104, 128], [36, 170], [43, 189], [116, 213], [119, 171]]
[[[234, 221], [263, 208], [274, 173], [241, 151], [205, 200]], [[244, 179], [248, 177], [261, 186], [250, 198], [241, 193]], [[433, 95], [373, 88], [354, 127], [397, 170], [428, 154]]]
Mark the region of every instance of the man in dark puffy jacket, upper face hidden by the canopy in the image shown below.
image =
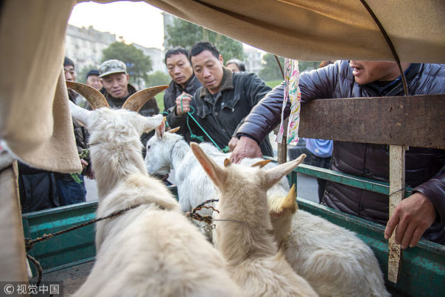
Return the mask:
[[[402, 63], [410, 94], [444, 94], [445, 67]], [[403, 85], [395, 62], [337, 61], [302, 73], [302, 103], [312, 99], [401, 96]], [[263, 99], [239, 128], [233, 162], [260, 155], [258, 141], [280, 121], [283, 84]], [[287, 113], [289, 115], [289, 104]], [[249, 135], [243, 137], [242, 135]], [[255, 139], [255, 141], [252, 141]], [[389, 181], [389, 150], [380, 144], [334, 142], [331, 169], [373, 180]], [[405, 154], [405, 183], [412, 196], [399, 203], [388, 221], [388, 196], [337, 183], [328, 183], [322, 204], [377, 223], [387, 224], [385, 238], [396, 228], [402, 248], [420, 237], [445, 244], [445, 151], [410, 147]]]

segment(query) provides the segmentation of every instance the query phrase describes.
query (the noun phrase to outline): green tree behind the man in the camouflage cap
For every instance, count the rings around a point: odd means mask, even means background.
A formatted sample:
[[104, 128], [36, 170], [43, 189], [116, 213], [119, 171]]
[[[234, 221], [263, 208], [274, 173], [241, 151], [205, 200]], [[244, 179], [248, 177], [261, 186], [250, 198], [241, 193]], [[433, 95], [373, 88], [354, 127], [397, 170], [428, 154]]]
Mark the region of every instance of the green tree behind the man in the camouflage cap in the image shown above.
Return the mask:
[[140, 80], [148, 83], [147, 72], [151, 71], [152, 63], [151, 58], [145, 56], [142, 50], [124, 42], [115, 42], [104, 49], [102, 54], [102, 62], [117, 59], [126, 64], [127, 72], [130, 74], [130, 83], [140, 85]]

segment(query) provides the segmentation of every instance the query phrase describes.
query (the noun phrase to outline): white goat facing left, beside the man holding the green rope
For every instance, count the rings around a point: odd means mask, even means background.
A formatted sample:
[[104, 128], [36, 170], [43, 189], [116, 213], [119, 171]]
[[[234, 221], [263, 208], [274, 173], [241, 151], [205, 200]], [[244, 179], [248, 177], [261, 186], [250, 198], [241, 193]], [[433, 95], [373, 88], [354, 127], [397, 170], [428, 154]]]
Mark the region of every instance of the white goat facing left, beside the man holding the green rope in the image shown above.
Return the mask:
[[[199, 146], [220, 166], [224, 164], [226, 158], [230, 158], [230, 153], [221, 153], [210, 143], [201, 143]], [[241, 163], [250, 165], [259, 160], [262, 159], [244, 159]], [[145, 164], [150, 174], [163, 175], [169, 173], [170, 169], [174, 169], [179, 203], [184, 212], [216, 197], [214, 185], [194, 157], [189, 144], [180, 135], [165, 133], [163, 125], [156, 128], [156, 135], [147, 142]], [[267, 168], [274, 166], [274, 164], [268, 164]], [[289, 183], [287, 178], [283, 178], [269, 189], [267, 196], [275, 201], [285, 197], [288, 192]], [[203, 209], [200, 213], [211, 215], [212, 211]]]

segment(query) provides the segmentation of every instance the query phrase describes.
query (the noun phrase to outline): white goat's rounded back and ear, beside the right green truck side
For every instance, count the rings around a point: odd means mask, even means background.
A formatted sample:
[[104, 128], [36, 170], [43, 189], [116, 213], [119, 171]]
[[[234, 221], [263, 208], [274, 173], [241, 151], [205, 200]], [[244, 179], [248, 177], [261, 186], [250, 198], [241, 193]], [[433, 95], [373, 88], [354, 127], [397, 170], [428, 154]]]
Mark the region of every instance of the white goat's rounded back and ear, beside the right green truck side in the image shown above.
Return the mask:
[[[371, 248], [355, 234], [298, 210], [295, 187], [269, 201], [278, 246], [320, 296], [390, 296]], [[295, 213], [295, 214], [294, 214]]]

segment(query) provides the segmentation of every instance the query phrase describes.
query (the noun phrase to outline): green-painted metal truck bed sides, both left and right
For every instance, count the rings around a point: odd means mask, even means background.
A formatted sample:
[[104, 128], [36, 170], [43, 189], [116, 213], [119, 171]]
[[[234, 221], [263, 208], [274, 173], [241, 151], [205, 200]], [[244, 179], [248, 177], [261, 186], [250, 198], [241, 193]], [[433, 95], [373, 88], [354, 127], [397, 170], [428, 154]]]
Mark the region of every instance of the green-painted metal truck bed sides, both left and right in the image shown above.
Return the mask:
[[[385, 183], [370, 182], [319, 169], [300, 165], [289, 175], [289, 181], [296, 183], [296, 173], [312, 176], [328, 176], [330, 180], [340, 180], [346, 185], [364, 186], [383, 194], [389, 194]], [[170, 190], [177, 196], [176, 187]], [[388, 246], [383, 237], [384, 226], [360, 219], [303, 198], [297, 198], [301, 210], [324, 217], [329, 221], [355, 232], [376, 254], [380, 268], [387, 276]], [[25, 237], [36, 238], [42, 235], [76, 226], [94, 219], [97, 201], [69, 205], [53, 210], [43, 210], [23, 214]], [[40, 261], [44, 273], [56, 271], [94, 259], [94, 225], [85, 226], [64, 235], [53, 237], [35, 244], [29, 253]], [[414, 248], [405, 250], [402, 261], [401, 277], [397, 284], [387, 283], [393, 296], [444, 296], [445, 292], [445, 246], [421, 240]]]

